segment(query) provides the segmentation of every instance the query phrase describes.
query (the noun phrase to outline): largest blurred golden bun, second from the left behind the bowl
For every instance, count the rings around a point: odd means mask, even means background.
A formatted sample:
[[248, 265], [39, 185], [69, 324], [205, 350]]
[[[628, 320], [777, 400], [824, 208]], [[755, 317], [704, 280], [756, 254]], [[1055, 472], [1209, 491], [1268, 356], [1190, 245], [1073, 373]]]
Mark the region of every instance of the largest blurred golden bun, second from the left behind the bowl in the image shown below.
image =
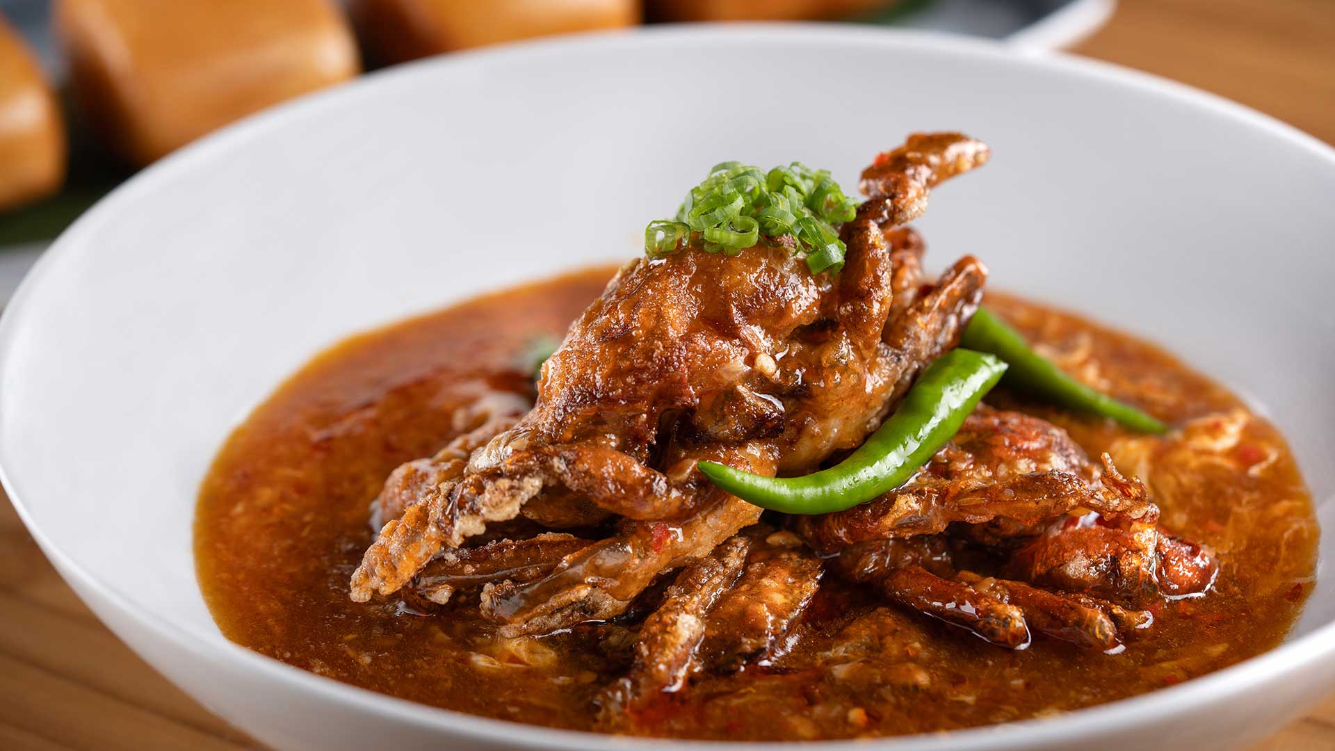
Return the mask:
[[136, 164], [360, 71], [328, 0], [59, 0], [89, 126]]

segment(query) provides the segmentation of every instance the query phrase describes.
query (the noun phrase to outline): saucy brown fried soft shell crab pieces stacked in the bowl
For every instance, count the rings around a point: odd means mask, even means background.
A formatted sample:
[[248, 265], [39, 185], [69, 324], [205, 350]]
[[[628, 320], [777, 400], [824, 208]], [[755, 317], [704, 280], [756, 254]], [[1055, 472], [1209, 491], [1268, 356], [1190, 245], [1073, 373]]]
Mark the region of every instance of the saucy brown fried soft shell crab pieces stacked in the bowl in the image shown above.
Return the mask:
[[[599, 695], [625, 724], [698, 671], [782, 652], [822, 577], [1013, 649], [1116, 652], [1153, 603], [1206, 593], [1210, 551], [1160, 529], [1139, 480], [1017, 412], [980, 405], [908, 482], [834, 513], [762, 521], [700, 472], [828, 466], [959, 345], [987, 269], [964, 257], [929, 281], [906, 223], [987, 159], [960, 134], [878, 156], [837, 227], [841, 267], [814, 273], [793, 238], [718, 253], [698, 233], [626, 265], [542, 366], [533, 409], [487, 405], [394, 472], [351, 597], [475, 591], [515, 637], [625, 621], [651, 595], [629, 673]], [[537, 532], [487, 535], [515, 518]]]

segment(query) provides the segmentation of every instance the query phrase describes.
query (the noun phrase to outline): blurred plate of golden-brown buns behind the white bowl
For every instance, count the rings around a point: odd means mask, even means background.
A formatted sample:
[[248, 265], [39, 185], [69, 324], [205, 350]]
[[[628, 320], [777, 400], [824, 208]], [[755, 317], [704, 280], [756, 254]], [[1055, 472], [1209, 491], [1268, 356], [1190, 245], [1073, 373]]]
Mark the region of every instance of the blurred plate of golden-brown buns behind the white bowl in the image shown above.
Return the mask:
[[0, 0], [0, 303], [45, 243], [156, 159], [252, 112], [419, 57], [641, 24], [842, 21], [1009, 39], [1113, 0]]

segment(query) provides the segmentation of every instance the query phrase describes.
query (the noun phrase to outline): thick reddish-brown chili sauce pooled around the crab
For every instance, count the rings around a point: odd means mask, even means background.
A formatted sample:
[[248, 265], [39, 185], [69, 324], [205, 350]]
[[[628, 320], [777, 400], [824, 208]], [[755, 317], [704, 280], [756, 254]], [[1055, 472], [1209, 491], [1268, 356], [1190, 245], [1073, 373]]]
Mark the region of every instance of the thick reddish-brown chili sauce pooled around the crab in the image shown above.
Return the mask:
[[[594, 695], [625, 669], [591, 629], [499, 639], [475, 600], [425, 617], [355, 604], [347, 581], [388, 472], [451, 438], [455, 412], [479, 394], [527, 390], [526, 347], [559, 335], [609, 275], [590, 270], [354, 337], [260, 405], [218, 456], [196, 512], [199, 581], [223, 633], [394, 696], [590, 730]], [[661, 735], [850, 738], [1045, 716], [1180, 683], [1283, 639], [1311, 591], [1318, 528], [1279, 433], [1153, 346], [1015, 298], [989, 303], [1081, 378], [1189, 425], [1152, 438], [989, 398], [1065, 426], [1091, 454], [1111, 450], [1147, 480], [1163, 524], [1218, 551], [1215, 591], [1157, 608], [1152, 632], [1111, 656], [1053, 641], [1011, 652], [829, 577], [788, 655], [700, 679]]]

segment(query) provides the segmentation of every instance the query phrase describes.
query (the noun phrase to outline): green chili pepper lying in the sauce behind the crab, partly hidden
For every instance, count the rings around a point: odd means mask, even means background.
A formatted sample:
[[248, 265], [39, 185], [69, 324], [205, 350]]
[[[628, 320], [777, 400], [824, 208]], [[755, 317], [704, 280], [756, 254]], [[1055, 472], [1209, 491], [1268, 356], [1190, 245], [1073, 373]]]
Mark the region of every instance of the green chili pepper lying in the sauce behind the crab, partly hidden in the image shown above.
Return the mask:
[[1019, 331], [985, 307], [973, 314], [960, 345], [989, 351], [1011, 366], [1005, 384], [1075, 410], [1111, 417], [1141, 433], [1167, 433], [1168, 426], [1144, 412], [1096, 392], [1076, 381], [1041, 354], [1033, 351]]

